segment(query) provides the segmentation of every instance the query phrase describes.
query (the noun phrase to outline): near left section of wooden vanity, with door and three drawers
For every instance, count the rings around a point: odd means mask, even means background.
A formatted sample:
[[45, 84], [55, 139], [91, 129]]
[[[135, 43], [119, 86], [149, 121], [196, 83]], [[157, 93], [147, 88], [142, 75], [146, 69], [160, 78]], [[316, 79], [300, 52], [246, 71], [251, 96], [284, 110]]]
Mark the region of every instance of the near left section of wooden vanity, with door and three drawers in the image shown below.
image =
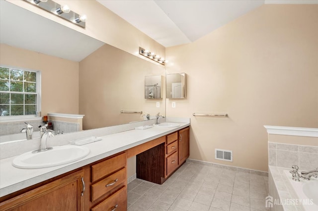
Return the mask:
[[126, 163], [126, 152], [98, 160], [2, 197], [0, 211], [126, 211]]

